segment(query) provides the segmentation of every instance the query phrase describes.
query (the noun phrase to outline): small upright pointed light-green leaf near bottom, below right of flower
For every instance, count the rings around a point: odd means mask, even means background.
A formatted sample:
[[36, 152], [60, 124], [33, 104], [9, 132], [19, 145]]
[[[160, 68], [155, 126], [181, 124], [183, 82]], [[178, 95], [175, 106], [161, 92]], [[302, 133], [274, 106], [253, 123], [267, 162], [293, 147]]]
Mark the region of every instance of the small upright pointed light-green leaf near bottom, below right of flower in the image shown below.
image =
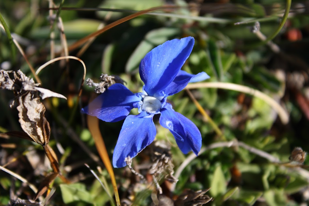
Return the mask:
[[226, 191], [226, 180], [222, 172], [221, 166], [217, 166], [214, 171], [213, 177], [210, 179], [210, 193], [214, 197], [225, 193]]

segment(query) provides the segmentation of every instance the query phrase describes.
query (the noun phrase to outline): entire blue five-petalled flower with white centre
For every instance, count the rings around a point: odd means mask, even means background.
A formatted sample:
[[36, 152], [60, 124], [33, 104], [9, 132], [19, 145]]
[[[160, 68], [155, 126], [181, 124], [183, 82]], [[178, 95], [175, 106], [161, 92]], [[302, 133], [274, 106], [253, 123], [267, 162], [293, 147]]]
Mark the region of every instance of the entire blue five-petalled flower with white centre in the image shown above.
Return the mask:
[[[202, 138], [197, 126], [166, 102], [167, 96], [178, 93], [189, 82], [209, 78], [205, 72], [193, 75], [180, 70], [193, 45], [194, 38], [186, 37], [157, 46], [139, 65], [139, 74], [145, 83], [142, 92], [133, 94], [116, 83], [82, 109], [82, 113], [106, 122], [125, 119], [114, 149], [114, 167], [126, 166], [126, 157], [135, 157], [154, 141], [156, 128], [152, 118], [155, 114], [161, 114], [160, 124], [170, 130], [183, 153], [193, 150], [197, 155], [200, 151]], [[129, 115], [133, 108], [138, 108], [138, 115]]]

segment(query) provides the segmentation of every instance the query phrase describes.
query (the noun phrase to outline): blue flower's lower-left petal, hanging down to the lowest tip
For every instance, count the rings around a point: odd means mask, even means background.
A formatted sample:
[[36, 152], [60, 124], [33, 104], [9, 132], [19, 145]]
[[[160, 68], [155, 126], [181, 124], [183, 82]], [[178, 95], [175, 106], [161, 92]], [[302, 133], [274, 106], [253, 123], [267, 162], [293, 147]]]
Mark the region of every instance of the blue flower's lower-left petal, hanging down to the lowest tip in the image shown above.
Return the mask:
[[125, 118], [114, 149], [114, 167], [126, 166], [126, 157], [135, 157], [147, 145], [154, 141], [156, 128], [152, 120], [153, 116], [146, 112], [141, 112], [136, 116], [129, 115]]

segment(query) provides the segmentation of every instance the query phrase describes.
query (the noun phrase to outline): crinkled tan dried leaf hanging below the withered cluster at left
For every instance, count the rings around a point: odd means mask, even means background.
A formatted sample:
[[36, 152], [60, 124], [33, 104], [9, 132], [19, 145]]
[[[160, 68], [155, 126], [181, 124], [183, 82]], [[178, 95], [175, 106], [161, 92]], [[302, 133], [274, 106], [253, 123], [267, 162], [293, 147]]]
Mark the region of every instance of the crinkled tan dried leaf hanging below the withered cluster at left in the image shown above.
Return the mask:
[[44, 116], [45, 107], [40, 102], [40, 97], [36, 91], [28, 91], [18, 98], [19, 123], [36, 143], [47, 145], [50, 136], [49, 122]]

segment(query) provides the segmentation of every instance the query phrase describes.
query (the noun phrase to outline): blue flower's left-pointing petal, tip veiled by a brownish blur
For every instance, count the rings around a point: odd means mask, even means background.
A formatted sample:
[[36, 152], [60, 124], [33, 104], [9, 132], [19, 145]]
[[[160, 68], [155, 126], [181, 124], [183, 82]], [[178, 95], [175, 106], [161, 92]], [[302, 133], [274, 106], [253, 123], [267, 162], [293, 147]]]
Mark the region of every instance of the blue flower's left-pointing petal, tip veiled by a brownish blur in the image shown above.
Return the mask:
[[124, 85], [116, 83], [95, 98], [81, 112], [96, 116], [106, 122], [117, 122], [125, 119], [133, 109], [133, 104], [141, 99]]

